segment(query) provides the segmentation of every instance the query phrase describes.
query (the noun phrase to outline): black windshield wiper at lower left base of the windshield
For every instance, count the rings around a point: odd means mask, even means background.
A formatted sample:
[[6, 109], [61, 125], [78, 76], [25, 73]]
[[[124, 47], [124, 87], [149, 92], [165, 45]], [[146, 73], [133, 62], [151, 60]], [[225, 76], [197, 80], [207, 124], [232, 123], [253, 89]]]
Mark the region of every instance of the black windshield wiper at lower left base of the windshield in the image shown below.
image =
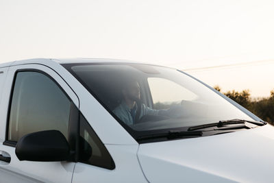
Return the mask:
[[177, 130], [170, 130], [168, 133], [161, 133], [161, 134], [149, 134], [145, 136], [139, 136], [136, 138], [136, 141], [144, 141], [154, 138], [168, 138], [168, 139], [174, 139], [174, 138], [182, 138], [182, 137], [197, 137], [202, 136], [203, 132], [196, 131], [196, 132], [188, 132], [188, 131], [177, 131]]

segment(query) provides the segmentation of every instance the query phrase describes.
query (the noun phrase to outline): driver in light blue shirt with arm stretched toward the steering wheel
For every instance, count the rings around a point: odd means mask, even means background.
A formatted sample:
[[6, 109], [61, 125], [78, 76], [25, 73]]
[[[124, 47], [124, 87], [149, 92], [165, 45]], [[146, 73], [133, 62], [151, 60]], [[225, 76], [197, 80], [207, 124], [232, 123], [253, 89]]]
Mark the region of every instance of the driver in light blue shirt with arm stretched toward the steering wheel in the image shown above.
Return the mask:
[[[153, 110], [140, 104], [140, 86], [136, 80], [127, 80], [122, 86], [122, 101], [112, 112], [127, 125], [133, 125], [145, 115], [167, 116], [168, 110]], [[139, 108], [138, 108], [138, 105]], [[138, 111], [140, 110], [140, 111]], [[138, 114], [137, 114], [138, 113]], [[138, 119], [136, 119], [138, 118]]]

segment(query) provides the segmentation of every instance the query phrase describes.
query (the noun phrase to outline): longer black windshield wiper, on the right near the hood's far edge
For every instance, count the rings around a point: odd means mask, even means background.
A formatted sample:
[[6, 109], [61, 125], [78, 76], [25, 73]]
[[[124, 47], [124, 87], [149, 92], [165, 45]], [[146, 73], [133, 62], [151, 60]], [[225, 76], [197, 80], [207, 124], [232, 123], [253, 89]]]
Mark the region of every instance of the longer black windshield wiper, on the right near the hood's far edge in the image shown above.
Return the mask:
[[207, 127], [224, 127], [225, 125], [245, 124], [246, 122], [252, 123], [254, 125], [259, 125], [259, 126], [267, 124], [266, 122], [263, 122], [263, 121], [247, 121], [244, 119], [231, 119], [231, 120], [219, 121], [219, 123], [208, 123], [205, 125], [192, 126], [188, 128], [188, 132], [193, 130], [200, 130]]

